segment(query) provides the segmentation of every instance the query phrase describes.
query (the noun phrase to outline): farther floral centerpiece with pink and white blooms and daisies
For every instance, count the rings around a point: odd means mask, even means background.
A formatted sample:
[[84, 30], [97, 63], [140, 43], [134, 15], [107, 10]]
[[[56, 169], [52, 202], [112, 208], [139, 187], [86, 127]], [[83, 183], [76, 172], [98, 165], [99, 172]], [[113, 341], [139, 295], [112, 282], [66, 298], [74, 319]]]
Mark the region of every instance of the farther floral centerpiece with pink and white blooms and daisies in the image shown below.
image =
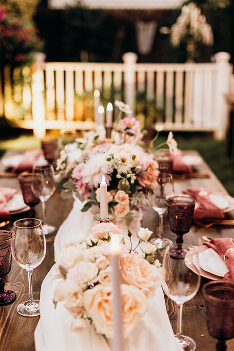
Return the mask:
[[[59, 187], [63, 195], [64, 190], [65, 193], [73, 191], [85, 201], [81, 210], [85, 212], [93, 205], [100, 206], [99, 184], [104, 176], [108, 186], [108, 212], [131, 222], [136, 211], [146, 209], [145, 195], [149, 187], [156, 186], [152, 180], [159, 170], [154, 153], [140, 144], [143, 133], [139, 121], [125, 116], [131, 112], [128, 105], [120, 101], [116, 101], [116, 105], [120, 113], [111, 139], [100, 137], [94, 131], [60, 152]], [[164, 144], [171, 153], [176, 152], [172, 132], [160, 147]]]

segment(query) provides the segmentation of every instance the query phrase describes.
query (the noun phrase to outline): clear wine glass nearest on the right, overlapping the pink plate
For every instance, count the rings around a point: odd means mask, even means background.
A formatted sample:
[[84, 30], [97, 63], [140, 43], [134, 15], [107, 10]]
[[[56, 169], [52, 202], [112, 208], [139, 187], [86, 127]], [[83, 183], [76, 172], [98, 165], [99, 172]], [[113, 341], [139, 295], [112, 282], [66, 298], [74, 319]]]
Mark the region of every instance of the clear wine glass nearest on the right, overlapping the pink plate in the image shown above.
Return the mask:
[[[182, 309], [184, 302], [191, 300], [197, 293], [201, 277], [186, 266], [184, 257], [177, 259], [171, 255], [173, 248], [173, 245], [169, 245], [165, 249], [162, 263], [164, 274], [162, 288], [165, 294], [178, 306], [176, 340], [183, 350], [194, 351], [196, 349], [195, 341], [182, 335]], [[195, 253], [195, 255], [197, 254]]]

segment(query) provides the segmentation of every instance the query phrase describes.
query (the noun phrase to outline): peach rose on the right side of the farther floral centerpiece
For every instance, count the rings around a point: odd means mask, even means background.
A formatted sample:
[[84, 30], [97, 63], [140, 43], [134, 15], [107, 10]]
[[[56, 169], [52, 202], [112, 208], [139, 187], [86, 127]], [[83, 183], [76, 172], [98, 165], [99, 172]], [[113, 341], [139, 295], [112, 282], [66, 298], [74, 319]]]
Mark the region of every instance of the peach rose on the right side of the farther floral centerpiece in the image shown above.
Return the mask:
[[141, 166], [146, 171], [139, 172], [137, 175], [138, 183], [142, 187], [152, 188], [156, 187], [155, 177], [159, 175], [158, 163], [153, 160], [151, 156], [148, 156]]

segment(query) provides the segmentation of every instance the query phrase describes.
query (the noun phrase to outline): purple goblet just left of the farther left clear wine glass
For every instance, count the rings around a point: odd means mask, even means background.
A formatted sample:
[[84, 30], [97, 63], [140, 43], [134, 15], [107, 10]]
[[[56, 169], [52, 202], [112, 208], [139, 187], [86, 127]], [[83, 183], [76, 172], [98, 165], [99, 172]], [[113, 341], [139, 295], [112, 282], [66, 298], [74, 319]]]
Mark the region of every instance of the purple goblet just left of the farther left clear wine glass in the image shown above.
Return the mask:
[[18, 180], [20, 182], [23, 201], [26, 205], [30, 206], [30, 217], [35, 217], [35, 205], [39, 203], [40, 199], [32, 192], [32, 173], [22, 172], [18, 176]]

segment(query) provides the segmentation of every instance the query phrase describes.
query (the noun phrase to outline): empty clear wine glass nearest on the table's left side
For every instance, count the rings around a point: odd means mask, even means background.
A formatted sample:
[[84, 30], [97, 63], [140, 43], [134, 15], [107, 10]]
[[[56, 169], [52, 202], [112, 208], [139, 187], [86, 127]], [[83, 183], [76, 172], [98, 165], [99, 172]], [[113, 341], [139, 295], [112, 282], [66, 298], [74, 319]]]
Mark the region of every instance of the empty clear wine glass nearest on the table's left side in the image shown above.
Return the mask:
[[17, 312], [26, 317], [40, 314], [39, 301], [33, 298], [32, 271], [43, 261], [46, 253], [46, 241], [41, 221], [36, 218], [24, 218], [14, 222], [12, 254], [17, 264], [28, 274], [29, 300], [17, 306]]

